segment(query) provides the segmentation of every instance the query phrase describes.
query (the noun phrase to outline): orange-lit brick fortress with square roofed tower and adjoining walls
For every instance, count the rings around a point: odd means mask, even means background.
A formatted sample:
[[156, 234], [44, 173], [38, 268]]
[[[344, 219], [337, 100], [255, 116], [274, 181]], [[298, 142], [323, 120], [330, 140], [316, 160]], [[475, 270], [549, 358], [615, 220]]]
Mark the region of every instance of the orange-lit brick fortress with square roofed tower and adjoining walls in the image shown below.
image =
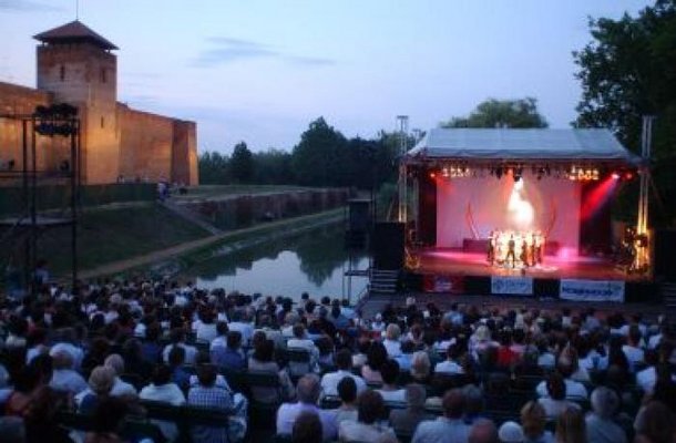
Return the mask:
[[[78, 107], [84, 184], [198, 183], [195, 123], [117, 102], [117, 47], [80, 21], [34, 39], [40, 42], [38, 87], [0, 82], [0, 115], [31, 114], [38, 105], [57, 103]], [[21, 123], [0, 119], [0, 167], [22, 167], [21, 146]], [[68, 146], [60, 137], [39, 136], [38, 169], [57, 171], [68, 158]]]

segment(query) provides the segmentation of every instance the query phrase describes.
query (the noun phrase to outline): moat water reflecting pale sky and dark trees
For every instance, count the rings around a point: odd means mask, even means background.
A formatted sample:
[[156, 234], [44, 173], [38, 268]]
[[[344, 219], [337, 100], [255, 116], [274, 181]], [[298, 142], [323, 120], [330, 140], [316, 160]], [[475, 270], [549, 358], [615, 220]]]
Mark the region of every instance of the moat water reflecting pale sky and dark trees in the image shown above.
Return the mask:
[[[338, 224], [214, 257], [187, 274], [205, 288], [293, 298], [304, 291], [314, 297], [340, 297], [344, 291], [347, 296], [342, 272], [350, 258], [354, 269], [368, 267], [363, 253], [350, 257], [345, 250], [342, 226]], [[354, 278], [352, 293], [365, 286], [365, 278]]]

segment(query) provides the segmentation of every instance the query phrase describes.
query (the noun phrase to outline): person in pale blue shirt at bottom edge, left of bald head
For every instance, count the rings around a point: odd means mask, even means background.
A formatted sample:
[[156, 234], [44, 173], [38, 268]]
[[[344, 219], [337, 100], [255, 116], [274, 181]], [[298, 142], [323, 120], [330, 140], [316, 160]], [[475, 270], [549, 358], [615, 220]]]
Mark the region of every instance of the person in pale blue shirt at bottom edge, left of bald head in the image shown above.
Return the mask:
[[412, 443], [454, 442], [467, 443], [470, 426], [462, 420], [464, 395], [461, 390], [452, 389], [443, 395], [443, 415], [437, 420], [423, 421], [413, 434]]

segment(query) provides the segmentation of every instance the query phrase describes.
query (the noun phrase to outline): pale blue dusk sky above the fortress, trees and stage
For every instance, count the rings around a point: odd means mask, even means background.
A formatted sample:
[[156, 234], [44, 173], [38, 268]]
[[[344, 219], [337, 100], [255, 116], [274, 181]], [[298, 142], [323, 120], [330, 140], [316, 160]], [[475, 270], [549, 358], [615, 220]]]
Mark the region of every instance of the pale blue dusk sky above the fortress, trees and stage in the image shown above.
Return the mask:
[[[120, 51], [119, 100], [197, 122], [201, 152], [290, 150], [324, 115], [346, 136], [429, 128], [488, 99], [534, 96], [552, 127], [575, 119], [572, 51], [587, 17], [638, 0], [81, 0]], [[75, 0], [0, 0], [0, 81], [35, 84], [32, 35]]]

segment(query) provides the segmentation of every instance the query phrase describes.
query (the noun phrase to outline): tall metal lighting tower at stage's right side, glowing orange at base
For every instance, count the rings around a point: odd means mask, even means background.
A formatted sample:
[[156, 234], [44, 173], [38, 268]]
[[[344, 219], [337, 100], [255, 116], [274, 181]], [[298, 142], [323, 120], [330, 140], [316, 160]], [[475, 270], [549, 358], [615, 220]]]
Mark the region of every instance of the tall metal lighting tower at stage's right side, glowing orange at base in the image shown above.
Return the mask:
[[641, 156], [643, 162], [639, 174], [638, 193], [638, 217], [636, 220], [636, 258], [634, 259], [634, 270], [647, 272], [651, 266], [649, 238], [648, 238], [648, 186], [651, 181], [651, 148], [653, 144], [653, 121], [654, 116], [643, 117], [643, 131], [641, 134]]

